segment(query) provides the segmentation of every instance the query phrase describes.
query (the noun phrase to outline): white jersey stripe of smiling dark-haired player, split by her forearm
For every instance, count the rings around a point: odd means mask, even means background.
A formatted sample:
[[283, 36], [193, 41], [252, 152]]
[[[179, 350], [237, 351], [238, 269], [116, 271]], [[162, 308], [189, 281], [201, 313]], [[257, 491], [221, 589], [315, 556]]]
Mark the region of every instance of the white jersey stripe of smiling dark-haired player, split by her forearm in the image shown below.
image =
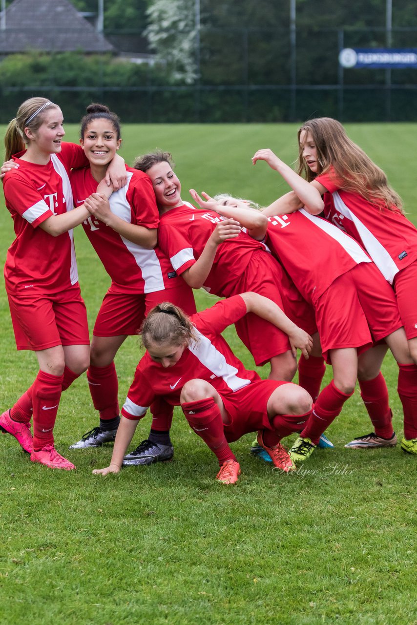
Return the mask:
[[[130, 224], [131, 206], [126, 199], [126, 194], [128, 192], [129, 183], [133, 173], [128, 171], [126, 175], [128, 176], [128, 183], [118, 191], [111, 194], [109, 204], [111, 212], [120, 217], [120, 219], [123, 219], [123, 221], [126, 221], [126, 223]], [[128, 251], [134, 257], [136, 264], [142, 272], [144, 292], [152, 293], [154, 291], [162, 291], [165, 288], [164, 277], [156, 252], [153, 249], [145, 249], [137, 243], [133, 243], [132, 241], [125, 239], [123, 236], [120, 236], [120, 238]]]

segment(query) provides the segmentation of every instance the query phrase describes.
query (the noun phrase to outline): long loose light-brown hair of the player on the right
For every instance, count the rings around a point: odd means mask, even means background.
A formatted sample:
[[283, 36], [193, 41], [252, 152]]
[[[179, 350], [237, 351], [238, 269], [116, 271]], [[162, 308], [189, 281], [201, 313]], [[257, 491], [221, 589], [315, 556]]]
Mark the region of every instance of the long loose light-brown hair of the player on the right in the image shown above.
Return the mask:
[[[317, 151], [318, 173], [303, 158], [301, 133], [310, 134]], [[334, 170], [344, 191], [363, 196], [368, 202], [391, 211], [403, 212], [401, 197], [389, 185], [386, 174], [348, 138], [341, 123], [332, 118], [309, 119], [298, 131], [298, 173], [309, 182], [318, 174]]]

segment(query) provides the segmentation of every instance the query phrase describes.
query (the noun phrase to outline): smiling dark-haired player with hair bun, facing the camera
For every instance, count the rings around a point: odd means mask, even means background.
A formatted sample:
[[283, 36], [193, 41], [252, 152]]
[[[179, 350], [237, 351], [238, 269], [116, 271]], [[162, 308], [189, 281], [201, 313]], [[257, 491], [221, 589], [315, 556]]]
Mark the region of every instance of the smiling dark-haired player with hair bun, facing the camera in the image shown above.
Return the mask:
[[[83, 222], [84, 231], [111, 277], [111, 286], [94, 324], [87, 371], [99, 426], [70, 449], [114, 441], [120, 420], [114, 357], [126, 337], [138, 333], [146, 313], [161, 301], [181, 305], [188, 314], [196, 311], [192, 289], [155, 247], [159, 214], [148, 176], [126, 167], [128, 181], [121, 189], [109, 199], [94, 194], [122, 141], [118, 116], [103, 104], [90, 104], [80, 136], [89, 167], [73, 169], [71, 186], [76, 205], [85, 201], [91, 212]], [[158, 412], [158, 407], [153, 409]], [[149, 441], [172, 449], [169, 434], [153, 431]]]

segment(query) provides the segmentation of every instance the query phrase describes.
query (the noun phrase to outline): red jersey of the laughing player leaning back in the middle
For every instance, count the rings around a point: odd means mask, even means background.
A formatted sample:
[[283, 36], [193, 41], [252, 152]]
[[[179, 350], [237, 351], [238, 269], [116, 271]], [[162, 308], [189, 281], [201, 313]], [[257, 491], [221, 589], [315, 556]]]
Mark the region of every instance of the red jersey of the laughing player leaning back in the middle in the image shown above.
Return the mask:
[[[181, 275], [193, 266], [203, 252], [209, 236], [219, 221], [226, 217], [217, 212], [178, 206], [161, 215], [159, 222], [159, 246], [169, 256], [175, 271]], [[219, 297], [234, 294], [234, 286], [248, 266], [254, 251], [268, 248], [255, 241], [246, 232], [218, 246], [213, 267], [204, 282], [204, 289]]]

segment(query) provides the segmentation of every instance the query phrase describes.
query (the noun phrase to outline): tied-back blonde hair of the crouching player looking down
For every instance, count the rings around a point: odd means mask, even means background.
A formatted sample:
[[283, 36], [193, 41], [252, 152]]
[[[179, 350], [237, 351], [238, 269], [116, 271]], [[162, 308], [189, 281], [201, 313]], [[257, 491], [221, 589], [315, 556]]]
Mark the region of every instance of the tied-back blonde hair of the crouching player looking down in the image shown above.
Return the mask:
[[162, 302], [149, 312], [142, 324], [141, 334], [146, 349], [155, 343], [188, 347], [197, 340], [196, 329], [188, 315], [170, 302]]

